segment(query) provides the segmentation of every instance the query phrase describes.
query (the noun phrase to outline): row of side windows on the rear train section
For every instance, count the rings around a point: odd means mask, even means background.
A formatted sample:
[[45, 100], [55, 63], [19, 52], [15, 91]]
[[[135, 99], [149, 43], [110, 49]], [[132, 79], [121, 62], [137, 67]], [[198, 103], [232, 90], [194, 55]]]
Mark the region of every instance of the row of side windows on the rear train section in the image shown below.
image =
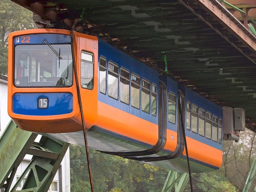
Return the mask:
[[[192, 108], [191, 108], [192, 107]], [[187, 129], [221, 144], [222, 120], [187, 102]], [[219, 140], [218, 140], [219, 138]]]

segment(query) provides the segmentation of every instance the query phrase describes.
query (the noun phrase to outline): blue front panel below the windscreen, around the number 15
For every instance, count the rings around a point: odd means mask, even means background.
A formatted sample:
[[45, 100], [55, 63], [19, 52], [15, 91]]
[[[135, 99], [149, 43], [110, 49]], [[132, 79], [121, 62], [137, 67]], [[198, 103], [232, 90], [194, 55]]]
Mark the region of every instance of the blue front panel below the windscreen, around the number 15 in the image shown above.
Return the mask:
[[[39, 98], [47, 98], [48, 108], [39, 109]], [[16, 93], [13, 95], [13, 113], [32, 116], [63, 115], [73, 111], [71, 93]]]

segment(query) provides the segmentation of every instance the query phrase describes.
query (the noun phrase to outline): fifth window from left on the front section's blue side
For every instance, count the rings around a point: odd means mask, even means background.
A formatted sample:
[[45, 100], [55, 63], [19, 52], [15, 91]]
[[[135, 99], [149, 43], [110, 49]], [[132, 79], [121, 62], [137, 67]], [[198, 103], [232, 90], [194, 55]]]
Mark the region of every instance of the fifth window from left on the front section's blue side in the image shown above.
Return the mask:
[[150, 83], [144, 79], [141, 82], [141, 109], [150, 113]]

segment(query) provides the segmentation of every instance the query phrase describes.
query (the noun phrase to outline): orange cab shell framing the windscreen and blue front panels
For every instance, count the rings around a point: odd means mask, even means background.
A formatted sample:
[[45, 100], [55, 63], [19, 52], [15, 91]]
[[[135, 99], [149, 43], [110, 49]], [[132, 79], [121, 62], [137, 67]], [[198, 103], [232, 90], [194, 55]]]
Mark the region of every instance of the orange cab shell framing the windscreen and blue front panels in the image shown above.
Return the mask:
[[[13, 53], [14, 53], [14, 47], [13, 47], [13, 39], [15, 36], [20, 35], [26, 35], [26, 34], [40, 34], [40, 33], [52, 33], [52, 34], [63, 34], [63, 35], [70, 35], [70, 32], [67, 30], [60, 30], [60, 29], [31, 29], [31, 30], [24, 30], [24, 31], [17, 31], [13, 32], [9, 35], [9, 51], [8, 51], [8, 76], [13, 76]], [[86, 37], [86, 38], [85, 38]], [[77, 43], [77, 42], [80, 42]], [[98, 54], [97, 49], [93, 49], [93, 43], [97, 43], [98, 39], [94, 36], [88, 36], [85, 34], [80, 34], [77, 32], [74, 32], [74, 48], [75, 48], [75, 60], [76, 60], [76, 66], [78, 69], [78, 74], [80, 74], [80, 56], [81, 51], [85, 50], [88, 52], [92, 52], [94, 56], [94, 66], [97, 66], [98, 63]], [[94, 85], [97, 85], [97, 73], [98, 68], [94, 67]], [[78, 78], [78, 83], [80, 84], [80, 78]], [[77, 99], [77, 93], [76, 93], [76, 85], [75, 85], [75, 76], [73, 73], [73, 85], [71, 87], [42, 87], [42, 88], [36, 88], [36, 87], [28, 87], [28, 88], [19, 88], [15, 87], [13, 85], [13, 78], [8, 79], [8, 114], [12, 117], [14, 122], [20, 126], [20, 128], [33, 131], [33, 132], [74, 132], [74, 131], [81, 131], [83, 128], [81, 126], [81, 115], [78, 107], [78, 99]], [[26, 116], [26, 115], [19, 115], [15, 114], [12, 111], [12, 96], [15, 93], [45, 93], [45, 92], [70, 92], [73, 94], [73, 111], [69, 114], [64, 115], [55, 115], [55, 116]], [[94, 100], [86, 100], [86, 98], [82, 98], [83, 106], [86, 106], [84, 111], [84, 115], [87, 116], [86, 121], [86, 128], [90, 128], [96, 120], [96, 112], [97, 108], [97, 87], [95, 86], [93, 90], [84, 90], [80, 88], [80, 92], [83, 94], [87, 94], [90, 98], [95, 98]], [[89, 107], [90, 111], [86, 110], [86, 108]], [[94, 108], [94, 110], [93, 110]], [[64, 121], [60, 121], [64, 120]], [[70, 126], [70, 122], [74, 122], [74, 126]], [[22, 126], [21, 126], [22, 124]], [[51, 124], [53, 127], [55, 127], [54, 130], [52, 130], [49, 127], [49, 124]], [[33, 128], [28, 128], [29, 126], [32, 126]], [[48, 126], [48, 128], [47, 128]]]

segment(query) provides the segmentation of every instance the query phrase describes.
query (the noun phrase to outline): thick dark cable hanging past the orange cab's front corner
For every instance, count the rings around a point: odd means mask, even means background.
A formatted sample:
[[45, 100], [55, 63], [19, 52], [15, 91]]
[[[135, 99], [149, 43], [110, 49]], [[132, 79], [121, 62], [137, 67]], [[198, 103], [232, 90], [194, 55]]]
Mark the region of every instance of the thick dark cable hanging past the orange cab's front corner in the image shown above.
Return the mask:
[[83, 126], [83, 132], [84, 132], [84, 144], [85, 144], [85, 151], [86, 151], [86, 158], [87, 158], [87, 165], [88, 165], [88, 172], [90, 177], [90, 185], [91, 185], [91, 191], [94, 192], [93, 183], [92, 183], [92, 171], [91, 171], [91, 164], [90, 164], [90, 156], [89, 156], [89, 148], [88, 148], [88, 142], [87, 142], [87, 136], [86, 136], [86, 130], [85, 130], [85, 122], [84, 122], [84, 112], [82, 107], [82, 100], [81, 100], [81, 94], [78, 84], [78, 76], [77, 76], [77, 68], [76, 68], [76, 60], [75, 60], [75, 51], [74, 51], [74, 30], [76, 28], [77, 23], [81, 22], [82, 19], [75, 20], [72, 29], [71, 29], [71, 53], [72, 53], [72, 60], [73, 60], [73, 69], [74, 69], [74, 75], [76, 80], [76, 91], [77, 91], [77, 98], [78, 98], [78, 104], [79, 109], [81, 113], [81, 120], [82, 120], [82, 126]]

